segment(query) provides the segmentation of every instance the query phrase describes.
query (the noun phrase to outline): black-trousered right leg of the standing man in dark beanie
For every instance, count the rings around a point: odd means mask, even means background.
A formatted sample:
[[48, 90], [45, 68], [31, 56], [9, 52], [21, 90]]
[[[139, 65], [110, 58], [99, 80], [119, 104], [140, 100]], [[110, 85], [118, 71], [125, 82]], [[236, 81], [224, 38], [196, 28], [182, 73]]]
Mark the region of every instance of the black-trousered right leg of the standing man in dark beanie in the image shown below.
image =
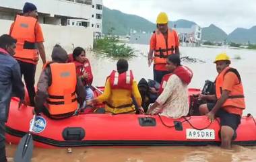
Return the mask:
[[28, 95], [30, 97], [30, 105], [34, 106], [34, 96], [36, 95], [34, 89], [34, 77], [36, 75], [36, 65], [30, 63], [24, 63], [24, 81], [26, 88], [28, 89]]

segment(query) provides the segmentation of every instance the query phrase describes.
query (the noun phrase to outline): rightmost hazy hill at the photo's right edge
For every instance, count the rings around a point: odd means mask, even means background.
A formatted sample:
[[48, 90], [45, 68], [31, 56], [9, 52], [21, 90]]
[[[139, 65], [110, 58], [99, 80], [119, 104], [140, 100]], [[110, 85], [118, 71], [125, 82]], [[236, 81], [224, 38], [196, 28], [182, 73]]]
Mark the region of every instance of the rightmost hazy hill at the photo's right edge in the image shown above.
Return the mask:
[[235, 43], [256, 43], [256, 26], [250, 29], [236, 28], [228, 35], [228, 40]]

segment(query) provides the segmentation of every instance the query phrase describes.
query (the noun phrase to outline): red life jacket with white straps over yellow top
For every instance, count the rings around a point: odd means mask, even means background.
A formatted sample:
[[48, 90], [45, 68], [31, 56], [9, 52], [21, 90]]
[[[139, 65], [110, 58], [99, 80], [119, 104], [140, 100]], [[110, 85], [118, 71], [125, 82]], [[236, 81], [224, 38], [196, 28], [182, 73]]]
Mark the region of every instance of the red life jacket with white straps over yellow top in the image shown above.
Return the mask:
[[133, 85], [132, 71], [126, 71], [119, 74], [117, 71], [112, 71], [109, 76], [111, 89], [128, 89], [131, 90]]

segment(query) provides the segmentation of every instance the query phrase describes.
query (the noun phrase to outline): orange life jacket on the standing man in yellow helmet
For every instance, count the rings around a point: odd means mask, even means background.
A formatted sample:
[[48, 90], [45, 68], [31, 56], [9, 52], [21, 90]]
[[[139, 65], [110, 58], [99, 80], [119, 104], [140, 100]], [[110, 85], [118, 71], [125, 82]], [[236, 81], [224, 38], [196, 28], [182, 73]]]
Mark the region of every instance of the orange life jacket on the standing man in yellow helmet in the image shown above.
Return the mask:
[[154, 50], [154, 64], [166, 64], [166, 58], [170, 54], [175, 53], [175, 37], [174, 31], [168, 29], [167, 42], [164, 35], [156, 30], [156, 49]]

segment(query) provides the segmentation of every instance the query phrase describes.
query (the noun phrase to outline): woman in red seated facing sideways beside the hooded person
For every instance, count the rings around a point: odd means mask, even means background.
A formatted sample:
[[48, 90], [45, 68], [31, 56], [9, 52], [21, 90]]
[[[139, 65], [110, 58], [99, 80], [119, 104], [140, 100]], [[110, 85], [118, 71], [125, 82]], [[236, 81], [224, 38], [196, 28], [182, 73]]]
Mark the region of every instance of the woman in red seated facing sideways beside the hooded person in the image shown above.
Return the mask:
[[82, 47], [76, 47], [73, 54], [69, 54], [69, 62], [75, 63], [76, 73], [82, 80], [86, 91], [86, 100], [94, 98], [94, 91], [90, 89], [92, 85], [93, 75], [90, 61], [86, 58], [86, 51]]

